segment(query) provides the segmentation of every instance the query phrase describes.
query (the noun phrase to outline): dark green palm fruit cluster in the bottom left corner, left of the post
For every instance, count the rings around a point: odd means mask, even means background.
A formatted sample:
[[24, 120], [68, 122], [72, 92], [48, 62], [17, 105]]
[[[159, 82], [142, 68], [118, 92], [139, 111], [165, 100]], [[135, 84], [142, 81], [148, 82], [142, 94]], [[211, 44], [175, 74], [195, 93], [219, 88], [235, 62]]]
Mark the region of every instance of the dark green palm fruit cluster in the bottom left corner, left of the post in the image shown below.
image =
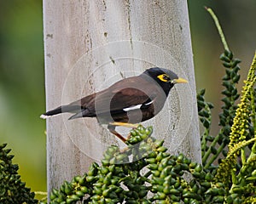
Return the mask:
[[9, 155], [11, 150], [6, 145], [0, 145], [0, 203], [38, 203], [35, 194], [21, 181], [19, 167], [12, 163], [14, 156]]

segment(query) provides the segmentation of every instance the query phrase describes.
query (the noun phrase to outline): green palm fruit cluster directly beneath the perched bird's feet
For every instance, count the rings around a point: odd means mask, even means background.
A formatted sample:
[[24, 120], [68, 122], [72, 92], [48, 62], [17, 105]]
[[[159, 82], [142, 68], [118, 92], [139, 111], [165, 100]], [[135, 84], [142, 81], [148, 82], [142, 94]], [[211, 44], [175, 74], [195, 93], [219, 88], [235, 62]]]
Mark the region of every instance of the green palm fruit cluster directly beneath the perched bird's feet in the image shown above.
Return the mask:
[[148, 187], [144, 186], [145, 180], [139, 173], [146, 162], [136, 160], [136, 156], [131, 161], [129, 156], [138, 153], [137, 146], [132, 147], [132, 144], [142, 141], [151, 133], [152, 127], [140, 126], [131, 130], [131, 143], [127, 141], [125, 150], [119, 150], [117, 146], [108, 147], [101, 166], [94, 162], [83, 177], [77, 176], [71, 183], [66, 181], [61, 185], [60, 190], [52, 190], [50, 203], [148, 203], [144, 198]]

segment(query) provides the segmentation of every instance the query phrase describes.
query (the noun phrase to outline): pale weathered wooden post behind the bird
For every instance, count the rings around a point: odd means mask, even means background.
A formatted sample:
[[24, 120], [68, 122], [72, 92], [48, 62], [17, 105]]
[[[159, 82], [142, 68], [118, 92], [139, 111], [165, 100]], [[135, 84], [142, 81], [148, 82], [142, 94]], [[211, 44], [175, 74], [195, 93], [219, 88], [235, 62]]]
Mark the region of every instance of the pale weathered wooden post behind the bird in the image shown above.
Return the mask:
[[[187, 1], [44, 0], [44, 55], [47, 111], [153, 66], [187, 79], [144, 124], [172, 153], [201, 161]], [[96, 119], [69, 116], [47, 120], [48, 190], [122, 145]]]

